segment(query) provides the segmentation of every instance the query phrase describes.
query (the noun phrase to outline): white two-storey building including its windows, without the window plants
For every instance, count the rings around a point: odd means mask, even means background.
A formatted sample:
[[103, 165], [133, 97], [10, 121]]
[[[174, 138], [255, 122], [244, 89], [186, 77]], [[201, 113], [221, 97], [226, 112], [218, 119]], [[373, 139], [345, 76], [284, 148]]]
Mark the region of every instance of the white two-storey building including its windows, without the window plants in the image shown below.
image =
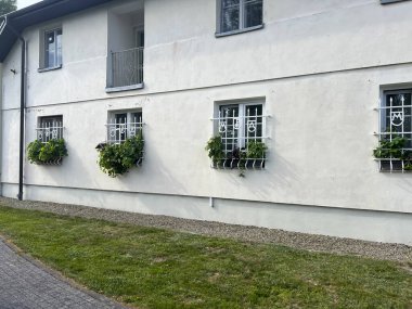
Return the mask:
[[[59, 166], [24, 156], [25, 199], [411, 245], [411, 13], [384, 0], [44, 0], [11, 13], [2, 195], [20, 189], [24, 89], [24, 147], [62, 121], [68, 150]], [[111, 119], [134, 117], [144, 159], [111, 178], [95, 146]], [[265, 166], [211, 168], [219, 132], [228, 157], [265, 142]], [[385, 137], [404, 138], [403, 160], [374, 159]]]

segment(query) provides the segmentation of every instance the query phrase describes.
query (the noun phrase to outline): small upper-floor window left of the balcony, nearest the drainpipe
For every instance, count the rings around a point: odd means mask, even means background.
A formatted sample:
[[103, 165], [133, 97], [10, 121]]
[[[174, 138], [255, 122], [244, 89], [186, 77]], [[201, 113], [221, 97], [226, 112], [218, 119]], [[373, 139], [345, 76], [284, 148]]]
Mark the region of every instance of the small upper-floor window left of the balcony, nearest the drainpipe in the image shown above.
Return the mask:
[[43, 54], [40, 66], [57, 68], [62, 66], [62, 29], [55, 28], [43, 33]]

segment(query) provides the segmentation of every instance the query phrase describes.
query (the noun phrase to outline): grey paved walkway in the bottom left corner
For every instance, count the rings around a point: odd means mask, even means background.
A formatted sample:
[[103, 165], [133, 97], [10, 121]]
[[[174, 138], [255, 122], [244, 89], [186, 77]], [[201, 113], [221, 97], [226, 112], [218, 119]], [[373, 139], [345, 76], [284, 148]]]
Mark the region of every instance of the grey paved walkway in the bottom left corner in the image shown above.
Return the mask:
[[16, 253], [0, 239], [0, 309], [124, 308], [74, 287], [46, 267]]

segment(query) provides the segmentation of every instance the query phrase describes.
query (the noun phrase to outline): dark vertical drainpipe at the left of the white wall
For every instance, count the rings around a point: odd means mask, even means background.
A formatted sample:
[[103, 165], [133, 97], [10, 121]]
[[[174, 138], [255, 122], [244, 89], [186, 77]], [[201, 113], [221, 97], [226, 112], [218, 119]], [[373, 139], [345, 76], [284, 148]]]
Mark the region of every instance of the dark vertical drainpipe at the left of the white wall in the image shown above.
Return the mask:
[[26, 40], [10, 24], [5, 24], [22, 42], [22, 67], [21, 67], [21, 89], [20, 89], [20, 152], [18, 152], [18, 194], [17, 198], [23, 199], [23, 167], [24, 167], [24, 116], [26, 107]]

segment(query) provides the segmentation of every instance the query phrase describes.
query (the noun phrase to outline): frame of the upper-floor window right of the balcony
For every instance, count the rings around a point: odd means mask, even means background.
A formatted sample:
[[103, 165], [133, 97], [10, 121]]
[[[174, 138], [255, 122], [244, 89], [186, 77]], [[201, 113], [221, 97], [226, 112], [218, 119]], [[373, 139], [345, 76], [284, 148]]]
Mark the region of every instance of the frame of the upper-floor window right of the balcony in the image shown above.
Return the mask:
[[260, 25], [255, 25], [255, 26], [245, 26], [245, 5], [249, 0], [240, 0], [240, 8], [239, 8], [239, 28], [237, 29], [232, 29], [232, 30], [223, 30], [223, 2], [222, 0], [217, 0], [217, 33], [216, 37], [221, 37], [221, 36], [228, 36], [228, 35], [234, 35], [234, 34], [240, 34], [240, 33], [245, 33], [245, 31], [252, 31], [256, 29], [260, 29], [263, 27], [263, 9], [265, 9], [265, 0], [261, 0], [261, 5], [262, 5], [262, 15], [261, 15], [261, 24]]

